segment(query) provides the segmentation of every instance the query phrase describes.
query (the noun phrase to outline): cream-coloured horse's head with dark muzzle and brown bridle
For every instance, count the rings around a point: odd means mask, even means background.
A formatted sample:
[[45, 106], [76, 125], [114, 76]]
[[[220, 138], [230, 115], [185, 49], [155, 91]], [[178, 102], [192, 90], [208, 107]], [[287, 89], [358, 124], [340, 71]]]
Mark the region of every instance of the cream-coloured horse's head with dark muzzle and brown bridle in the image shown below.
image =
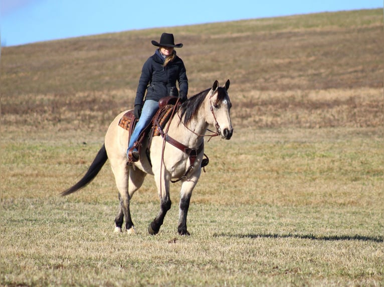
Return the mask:
[[215, 80], [207, 94], [209, 100], [206, 103], [207, 122], [216, 126], [217, 133], [225, 139], [230, 139], [233, 133], [230, 117], [232, 103], [228, 95], [229, 85], [229, 79], [224, 86], [219, 86], [219, 81]]

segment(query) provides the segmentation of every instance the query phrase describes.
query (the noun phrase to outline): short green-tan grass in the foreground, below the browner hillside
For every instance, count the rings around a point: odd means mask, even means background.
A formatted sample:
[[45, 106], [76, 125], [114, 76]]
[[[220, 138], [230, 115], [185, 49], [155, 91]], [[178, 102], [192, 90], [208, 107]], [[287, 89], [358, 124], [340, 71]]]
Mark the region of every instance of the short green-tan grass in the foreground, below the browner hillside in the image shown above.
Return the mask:
[[212, 139], [190, 237], [177, 235], [177, 183], [156, 236], [146, 230], [159, 208], [151, 176], [131, 203], [137, 235], [113, 233], [109, 164], [84, 190], [59, 196], [88, 167], [101, 134], [85, 134], [87, 144], [80, 134], [3, 139], [1, 284], [381, 284], [377, 131], [241, 129], [230, 141]]

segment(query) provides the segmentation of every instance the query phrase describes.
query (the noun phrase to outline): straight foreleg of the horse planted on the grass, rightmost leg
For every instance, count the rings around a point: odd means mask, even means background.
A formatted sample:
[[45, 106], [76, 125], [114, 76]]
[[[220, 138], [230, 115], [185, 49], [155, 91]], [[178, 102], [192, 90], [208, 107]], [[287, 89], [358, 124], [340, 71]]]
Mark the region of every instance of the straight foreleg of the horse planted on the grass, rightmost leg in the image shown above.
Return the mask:
[[181, 185], [177, 226], [177, 231], [180, 235], [190, 235], [186, 229], [186, 215], [188, 214], [190, 196], [192, 195], [192, 190], [198, 182], [199, 176], [200, 172], [198, 176], [194, 176], [188, 180], [185, 180]]

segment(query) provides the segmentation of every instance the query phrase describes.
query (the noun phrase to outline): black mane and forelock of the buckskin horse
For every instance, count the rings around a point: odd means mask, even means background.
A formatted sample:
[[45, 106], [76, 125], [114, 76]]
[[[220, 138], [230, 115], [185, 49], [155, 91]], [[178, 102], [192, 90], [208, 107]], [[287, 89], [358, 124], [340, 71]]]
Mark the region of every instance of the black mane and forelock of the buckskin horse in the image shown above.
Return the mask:
[[[180, 105], [179, 114], [180, 114], [180, 118], [184, 116], [184, 124], [187, 124], [197, 114], [200, 106], [202, 105], [204, 99], [206, 98], [206, 95], [210, 90], [211, 88], [207, 88], [206, 90], [203, 90], [195, 94], [194, 96], [191, 96]], [[224, 87], [219, 87], [217, 102], [223, 100], [226, 95], [227, 95], [226, 89]]]

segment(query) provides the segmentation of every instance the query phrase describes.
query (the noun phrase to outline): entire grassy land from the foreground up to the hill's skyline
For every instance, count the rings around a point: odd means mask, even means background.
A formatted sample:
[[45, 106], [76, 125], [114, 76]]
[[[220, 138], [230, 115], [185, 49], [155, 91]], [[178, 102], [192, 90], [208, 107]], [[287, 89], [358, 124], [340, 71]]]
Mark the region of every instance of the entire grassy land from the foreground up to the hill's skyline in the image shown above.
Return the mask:
[[108, 162], [59, 196], [132, 105], [161, 31], [2, 49], [0, 285], [384, 285], [382, 9], [174, 28], [190, 93], [230, 78], [233, 102], [232, 139], [206, 143], [191, 236], [177, 235], [177, 183], [147, 233], [151, 176], [131, 203], [137, 235], [113, 233]]

